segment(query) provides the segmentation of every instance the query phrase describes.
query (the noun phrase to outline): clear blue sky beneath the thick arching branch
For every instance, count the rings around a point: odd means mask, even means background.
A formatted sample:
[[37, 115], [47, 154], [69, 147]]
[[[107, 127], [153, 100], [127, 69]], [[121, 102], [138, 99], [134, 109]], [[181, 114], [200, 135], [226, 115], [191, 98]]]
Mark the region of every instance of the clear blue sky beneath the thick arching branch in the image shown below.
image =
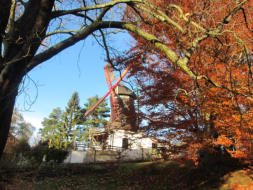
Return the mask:
[[[113, 35], [109, 41], [120, 50], [127, 49], [132, 42], [127, 33]], [[92, 38], [66, 49], [29, 73], [16, 107], [27, 122], [40, 128], [43, 118], [54, 108], [64, 109], [74, 91], [79, 93], [80, 105], [96, 94], [103, 96], [108, 91], [105, 58], [104, 50]]]

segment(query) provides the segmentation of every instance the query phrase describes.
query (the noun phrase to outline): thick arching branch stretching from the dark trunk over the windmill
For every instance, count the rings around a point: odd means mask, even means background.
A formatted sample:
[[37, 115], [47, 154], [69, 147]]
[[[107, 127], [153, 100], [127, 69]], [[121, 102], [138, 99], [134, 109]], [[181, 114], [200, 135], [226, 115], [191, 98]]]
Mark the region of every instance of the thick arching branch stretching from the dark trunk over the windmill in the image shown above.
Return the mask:
[[80, 40], [85, 39], [89, 34], [93, 33], [96, 30], [103, 29], [103, 28], [121, 28], [126, 29], [145, 40], [153, 43], [155, 47], [161, 50], [165, 55], [171, 60], [172, 63], [179, 66], [183, 71], [185, 71], [191, 78], [196, 79], [196, 75], [187, 67], [188, 58], [186, 57], [178, 57], [178, 55], [165, 44], [163, 44], [158, 38], [154, 35], [149, 34], [140, 28], [138, 28], [134, 24], [128, 24], [124, 22], [116, 22], [116, 21], [101, 21], [101, 22], [94, 22], [91, 25], [87, 26], [82, 31], [78, 32], [77, 34], [73, 35], [72, 37], [59, 42], [58, 44], [52, 46], [51, 48], [45, 50], [44, 52], [36, 55], [32, 61], [29, 63], [27, 69], [31, 70], [36, 65], [46, 61], [56, 55], [57, 53], [61, 52], [62, 50], [74, 45]]

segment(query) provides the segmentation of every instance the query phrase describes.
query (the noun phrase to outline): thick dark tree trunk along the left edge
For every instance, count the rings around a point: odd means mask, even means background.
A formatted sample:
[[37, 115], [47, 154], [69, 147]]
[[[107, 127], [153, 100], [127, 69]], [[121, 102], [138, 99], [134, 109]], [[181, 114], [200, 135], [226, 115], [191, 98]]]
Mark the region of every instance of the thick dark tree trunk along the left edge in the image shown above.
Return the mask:
[[54, 6], [54, 0], [27, 1], [23, 15], [17, 20], [9, 19], [13, 23], [7, 29], [8, 18], [12, 14], [11, 2], [4, 0], [0, 3], [0, 8], [5, 8], [0, 13], [0, 43], [5, 37], [4, 51], [1, 50], [2, 43], [0, 47], [0, 157], [8, 138], [19, 84], [29, 71], [27, 65], [46, 35]]

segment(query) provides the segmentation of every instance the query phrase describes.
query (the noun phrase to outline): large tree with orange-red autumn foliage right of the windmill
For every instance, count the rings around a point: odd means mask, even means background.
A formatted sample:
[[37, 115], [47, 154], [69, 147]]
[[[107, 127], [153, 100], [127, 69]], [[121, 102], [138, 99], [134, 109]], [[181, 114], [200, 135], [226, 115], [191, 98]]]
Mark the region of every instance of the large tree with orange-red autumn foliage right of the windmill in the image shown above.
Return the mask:
[[222, 145], [251, 158], [252, 8], [246, 0], [150, 0], [126, 9], [141, 31], [115, 61], [135, 63], [143, 129], [191, 152]]

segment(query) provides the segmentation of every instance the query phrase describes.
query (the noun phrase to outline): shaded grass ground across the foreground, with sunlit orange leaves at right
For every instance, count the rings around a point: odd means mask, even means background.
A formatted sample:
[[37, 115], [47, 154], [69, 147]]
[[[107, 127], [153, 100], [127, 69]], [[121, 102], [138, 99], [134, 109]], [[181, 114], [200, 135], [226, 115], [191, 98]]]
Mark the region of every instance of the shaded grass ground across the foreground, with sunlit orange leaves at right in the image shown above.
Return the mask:
[[253, 190], [253, 169], [196, 168], [175, 161], [0, 168], [0, 190]]

